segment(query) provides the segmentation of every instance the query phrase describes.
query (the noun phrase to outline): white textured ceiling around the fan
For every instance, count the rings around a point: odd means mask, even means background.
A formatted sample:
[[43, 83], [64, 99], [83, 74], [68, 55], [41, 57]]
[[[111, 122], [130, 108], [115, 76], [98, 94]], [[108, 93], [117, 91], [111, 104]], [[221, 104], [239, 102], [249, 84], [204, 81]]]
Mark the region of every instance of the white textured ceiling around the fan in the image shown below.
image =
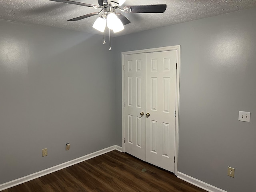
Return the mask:
[[[76, 1], [98, 5], [97, 0]], [[131, 23], [113, 36], [252, 8], [256, 6], [256, 0], [126, 0], [123, 6], [145, 4], [167, 4], [167, 9], [163, 14], [124, 13]], [[98, 16], [80, 21], [67, 21], [91, 12], [97, 10], [49, 0], [0, 0], [0, 19], [100, 34], [92, 28]]]

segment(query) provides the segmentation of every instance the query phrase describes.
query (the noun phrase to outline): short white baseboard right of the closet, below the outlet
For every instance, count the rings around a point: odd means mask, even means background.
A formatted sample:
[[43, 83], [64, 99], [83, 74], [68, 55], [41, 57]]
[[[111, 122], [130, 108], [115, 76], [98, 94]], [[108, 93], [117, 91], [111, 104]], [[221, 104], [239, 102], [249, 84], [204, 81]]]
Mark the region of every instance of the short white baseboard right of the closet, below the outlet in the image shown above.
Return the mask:
[[208, 192], [227, 192], [181, 172], [178, 172], [177, 177]]

